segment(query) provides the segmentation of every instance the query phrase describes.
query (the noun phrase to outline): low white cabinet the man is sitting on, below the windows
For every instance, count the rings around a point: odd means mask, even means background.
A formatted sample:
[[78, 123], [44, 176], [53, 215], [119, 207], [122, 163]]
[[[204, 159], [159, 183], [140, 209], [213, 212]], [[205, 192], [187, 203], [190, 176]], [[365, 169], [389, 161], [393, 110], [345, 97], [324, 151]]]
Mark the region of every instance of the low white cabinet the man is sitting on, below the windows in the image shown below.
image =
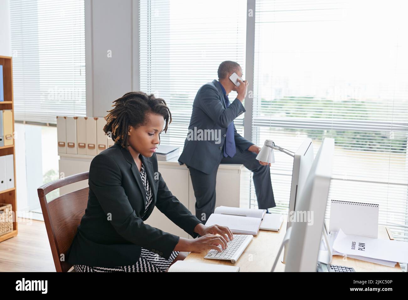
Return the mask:
[[[93, 156], [60, 153], [60, 176], [70, 176], [89, 171]], [[195, 196], [191, 178], [186, 165], [179, 165], [177, 158], [170, 161], [158, 161], [159, 172], [167, 187], [177, 199], [195, 214]], [[217, 172], [215, 207], [224, 205], [249, 208], [250, 171], [244, 165], [221, 164]], [[60, 195], [85, 188], [88, 181], [73, 183], [60, 188]], [[183, 229], [177, 227], [160, 210], [155, 207], [149, 218], [144, 221], [153, 227], [184, 238], [191, 238]]]

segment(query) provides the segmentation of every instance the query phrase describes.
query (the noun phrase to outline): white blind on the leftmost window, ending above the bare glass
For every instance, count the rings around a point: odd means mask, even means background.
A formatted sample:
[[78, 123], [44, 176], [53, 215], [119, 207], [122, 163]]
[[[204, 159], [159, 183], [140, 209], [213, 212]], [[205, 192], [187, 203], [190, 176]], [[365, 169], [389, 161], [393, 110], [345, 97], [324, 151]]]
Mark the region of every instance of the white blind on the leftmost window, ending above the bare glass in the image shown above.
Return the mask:
[[84, 0], [10, 0], [14, 116], [85, 116]]

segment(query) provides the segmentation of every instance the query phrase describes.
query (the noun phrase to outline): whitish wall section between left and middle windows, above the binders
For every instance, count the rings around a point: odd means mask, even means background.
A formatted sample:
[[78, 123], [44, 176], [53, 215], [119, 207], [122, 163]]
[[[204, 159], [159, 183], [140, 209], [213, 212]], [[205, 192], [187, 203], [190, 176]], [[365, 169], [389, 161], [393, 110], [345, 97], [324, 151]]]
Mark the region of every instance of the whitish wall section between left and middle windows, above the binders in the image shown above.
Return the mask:
[[[86, 115], [139, 90], [137, 0], [85, 0]], [[108, 51], [111, 56], [108, 57]]]

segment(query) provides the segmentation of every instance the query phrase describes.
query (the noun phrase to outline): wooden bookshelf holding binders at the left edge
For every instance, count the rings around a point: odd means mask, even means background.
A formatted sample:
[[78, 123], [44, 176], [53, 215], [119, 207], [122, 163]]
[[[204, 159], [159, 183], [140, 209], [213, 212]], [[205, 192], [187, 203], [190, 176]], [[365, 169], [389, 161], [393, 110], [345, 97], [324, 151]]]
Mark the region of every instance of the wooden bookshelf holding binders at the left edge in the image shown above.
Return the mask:
[[[13, 112], [13, 133], [14, 133], [14, 100], [13, 100], [13, 71], [12, 59], [9, 56], [0, 56], [0, 64], [3, 65], [3, 85], [4, 101], [0, 101], [0, 110], [11, 109]], [[16, 236], [18, 233], [17, 223], [17, 196], [16, 196], [16, 143], [13, 138], [13, 145], [0, 147], [0, 156], [13, 154], [14, 158], [14, 188], [0, 191], [0, 203], [11, 204], [13, 207], [14, 221], [13, 231], [0, 236], [0, 242]]]

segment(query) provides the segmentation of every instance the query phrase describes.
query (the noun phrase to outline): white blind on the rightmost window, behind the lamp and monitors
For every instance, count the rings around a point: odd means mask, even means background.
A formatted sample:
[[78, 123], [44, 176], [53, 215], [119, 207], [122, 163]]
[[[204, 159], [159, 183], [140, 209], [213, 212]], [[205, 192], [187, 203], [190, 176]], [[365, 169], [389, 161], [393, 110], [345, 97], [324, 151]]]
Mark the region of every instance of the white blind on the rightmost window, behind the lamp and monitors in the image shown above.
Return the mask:
[[[407, 4], [256, 2], [252, 132], [315, 154], [335, 139], [330, 199], [379, 204], [379, 224], [408, 240]], [[293, 158], [275, 151], [277, 207], [287, 212]], [[256, 196], [251, 188], [251, 203]]]

